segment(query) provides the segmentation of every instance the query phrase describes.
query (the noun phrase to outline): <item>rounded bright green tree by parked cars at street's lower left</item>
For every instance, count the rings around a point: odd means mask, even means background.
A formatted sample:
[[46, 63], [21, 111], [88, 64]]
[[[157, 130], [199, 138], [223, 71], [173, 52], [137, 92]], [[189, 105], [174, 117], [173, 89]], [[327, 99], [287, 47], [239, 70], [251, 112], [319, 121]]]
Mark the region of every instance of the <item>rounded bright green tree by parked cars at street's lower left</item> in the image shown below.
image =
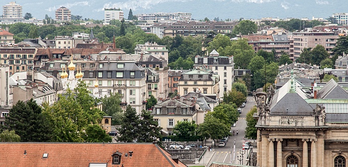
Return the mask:
[[211, 115], [205, 116], [204, 122], [198, 126], [197, 133], [200, 136], [211, 138], [213, 141], [231, 135], [230, 126]]

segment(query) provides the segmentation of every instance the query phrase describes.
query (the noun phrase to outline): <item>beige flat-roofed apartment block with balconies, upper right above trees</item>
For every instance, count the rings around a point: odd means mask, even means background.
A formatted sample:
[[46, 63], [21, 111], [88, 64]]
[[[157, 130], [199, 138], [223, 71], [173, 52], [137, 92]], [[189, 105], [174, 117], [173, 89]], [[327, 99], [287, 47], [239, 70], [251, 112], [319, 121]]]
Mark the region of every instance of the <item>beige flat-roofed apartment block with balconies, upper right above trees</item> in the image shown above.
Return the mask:
[[290, 58], [297, 59], [304, 48], [322, 45], [328, 53], [335, 48], [339, 35], [334, 32], [293, 32], [288, 34], [290, 40]]

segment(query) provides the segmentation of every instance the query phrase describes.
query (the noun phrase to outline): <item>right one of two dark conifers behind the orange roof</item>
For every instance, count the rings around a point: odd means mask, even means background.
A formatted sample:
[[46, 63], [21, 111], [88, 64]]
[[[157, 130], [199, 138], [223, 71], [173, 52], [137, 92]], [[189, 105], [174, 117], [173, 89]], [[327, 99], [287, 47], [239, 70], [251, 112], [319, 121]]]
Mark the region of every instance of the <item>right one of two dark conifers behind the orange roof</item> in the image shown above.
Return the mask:
[[139, 124], [138, 142], [151, 143], [162, 138], [162, 127], [158, 126], [158, 122], [154, 120], [154, 116], [152, 116], [150, 112], [145, 110], [141, 111]]

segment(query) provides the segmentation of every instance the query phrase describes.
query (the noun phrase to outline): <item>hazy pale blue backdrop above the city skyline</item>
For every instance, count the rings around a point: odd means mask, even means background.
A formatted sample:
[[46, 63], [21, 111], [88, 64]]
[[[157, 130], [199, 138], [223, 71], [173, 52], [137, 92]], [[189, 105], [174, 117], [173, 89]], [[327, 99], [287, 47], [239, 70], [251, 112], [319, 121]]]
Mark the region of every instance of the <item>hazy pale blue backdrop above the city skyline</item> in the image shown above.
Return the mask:
[[[13, 0], [0, 0], [3, 6]], [[54, 18], [55, 10], [67, 7], [73, 15], [104, 19], [104, 8], [121, 8], [125, 18], [133, 14], [155, 12], [189, 12], [193, 19], [239, 18], [328, 18], [333, 13], [348, 13], [342, 0], [16, 0], [23, 6], [23, 16], [31, 13], [37, 19], [45, 14]], [[343, 5], [345, 4], [345, 5]], [[2, 13], [1, 13], [2, 14]]]

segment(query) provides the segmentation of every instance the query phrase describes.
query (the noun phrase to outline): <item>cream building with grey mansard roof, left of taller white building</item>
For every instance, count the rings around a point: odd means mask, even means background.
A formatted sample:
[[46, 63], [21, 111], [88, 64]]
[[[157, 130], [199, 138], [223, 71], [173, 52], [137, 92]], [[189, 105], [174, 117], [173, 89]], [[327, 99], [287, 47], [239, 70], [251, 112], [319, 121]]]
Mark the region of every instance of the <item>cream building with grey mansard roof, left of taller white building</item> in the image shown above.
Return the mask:
[[213, 94], [219, 98], [219, 80], [219, 75], [211, 71], [193, 69], [181, 74], [177, 84], [178, 94], [186, 95], [192, 91], [200, 91], [203, 94]]

